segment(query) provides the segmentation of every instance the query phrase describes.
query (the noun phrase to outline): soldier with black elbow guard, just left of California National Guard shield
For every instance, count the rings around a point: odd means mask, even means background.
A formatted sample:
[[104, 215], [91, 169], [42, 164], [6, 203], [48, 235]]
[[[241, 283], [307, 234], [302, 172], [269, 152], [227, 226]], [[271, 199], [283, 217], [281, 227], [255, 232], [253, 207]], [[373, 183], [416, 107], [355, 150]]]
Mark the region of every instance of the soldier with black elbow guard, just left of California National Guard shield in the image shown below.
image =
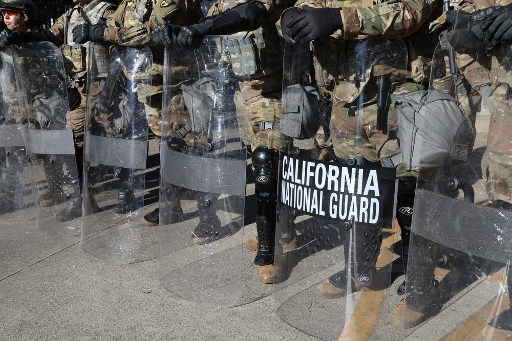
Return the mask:
[[[254, 264], [260, 266], [260, 281], [263, 283], [272, 283], [273, 280], [278, 150], [281, 144], [283, 52], [275, 23], [291, 4], [289, 1], [218, 1], [206, 18], [196, 25], [182, 27], [178, 35], [178, 41], [184, 47], [193, 46], [207, 34], [237, 34], [242, 43], [258, 47], [256, 51], [252, 50], [250, 57], [254, 63], [248, 84], [250, 98], [241, 98], [242, 89], [235, 95], [235, 101], [237, 107], [249, 108], [248, 117], [237, 116], [239, 126], [245, 130], [241, 131], [243, 142], [252, 150], [258, 231], [258, 253]], [[172, 28], [167, 27], [166, 30], [170, 37]], [[236, 56], [231, 55], [231, 60], [236, 60]], [[288, 239], [280, 240], [284, 247], [294, 247], [294, 233], [292, 231]]]

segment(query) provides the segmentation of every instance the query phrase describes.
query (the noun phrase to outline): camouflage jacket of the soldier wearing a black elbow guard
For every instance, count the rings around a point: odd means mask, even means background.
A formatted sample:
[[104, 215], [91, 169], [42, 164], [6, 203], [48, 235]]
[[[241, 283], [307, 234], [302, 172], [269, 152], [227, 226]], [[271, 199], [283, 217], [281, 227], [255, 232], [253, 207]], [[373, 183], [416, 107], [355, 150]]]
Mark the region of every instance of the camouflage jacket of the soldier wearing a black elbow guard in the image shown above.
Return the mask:
[[[253, 46], [257, 47], [258, 65], [251, 73], [251, 98], [260, 94], [281, 91], [283, 77], [283, 48], [284, 41], [280, 36], [276, 22], [279, 20], [283, 11], [293, 6], [295, 0], [258, 0], [268, 11], [268, 15], [263, 20], [261, 27], [251, 32], [239, 32], [236, 34], [240, 39], [249, 38]], [[208, 16], [226, 11], [227, 9], [245, 3], [245, 0], [219, 0], [212, 5], [208, 11]], [[231, 55], [231, 61], [234, 64], [236, 56]], [[238, 61], [238, 59], [237, 59]], [[247, 64], [247, 61], [239, 61]]]

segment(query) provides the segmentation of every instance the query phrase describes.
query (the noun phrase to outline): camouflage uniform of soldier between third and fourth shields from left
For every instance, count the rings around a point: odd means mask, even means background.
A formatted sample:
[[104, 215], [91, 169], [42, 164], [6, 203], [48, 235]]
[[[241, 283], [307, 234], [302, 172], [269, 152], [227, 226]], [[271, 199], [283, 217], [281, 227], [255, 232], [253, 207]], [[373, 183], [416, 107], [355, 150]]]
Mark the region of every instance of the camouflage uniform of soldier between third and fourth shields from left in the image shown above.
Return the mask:
[[147, 122], [157, 137], [162, 133], [164, 47], [151, 41], [151, 31], [165, 22], [175, 25], [195, 24], [202, 16], [199, 2], [193, 0], [179, 3], [173, 0], [126, 0], [115, 13], [107, 17], [107, 27], [103, 32], [105, 41], [127, 47], [147, 45], [153, 53], [152, 87], [144, 89], [144, 93], [151, 96], [151, 106], [145, 103], [144, 98], [139, 97], [139, 101], [144, 103]]

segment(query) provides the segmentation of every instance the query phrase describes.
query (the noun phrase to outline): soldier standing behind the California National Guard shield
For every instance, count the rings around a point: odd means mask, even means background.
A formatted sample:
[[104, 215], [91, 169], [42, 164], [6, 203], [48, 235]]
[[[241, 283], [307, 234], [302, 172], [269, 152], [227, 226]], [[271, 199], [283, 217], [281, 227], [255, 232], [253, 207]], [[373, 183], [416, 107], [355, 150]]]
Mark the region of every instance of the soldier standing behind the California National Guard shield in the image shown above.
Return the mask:
[[[381, 84], [372, 77], [366, 84], [365, 92], [359, 89], [357, 81], [346, 74], [347, 61], [355, 56], [357, 40], [365, 37], [407, 37], [411, 70], [405, 84], [394, 85], [395, 94], [408, 93], [428, 87], [429, 61], [437, 44], [437, 35], [425, 35], [433, 13], [439, 10], [430, 1], [386, 3], [361, 2], [362, 7], [344, 1], [301, 1], [296, 7], [283, 13], [281, 27], [283, 36], [291, 43], [312, 42], [316, 81], [322, 92], [328, 93], [332, 105], [331, 142], [335, 156], [345, 162], [355, 158], [357, 164], [367, 166], [395, 167], [398, 178], [396, 215], [402, 236], [402, 256], [407, 262], [408, 239], [412, 221], [412, 205], [416, 187], [416, 172], [406, 169], [397, 156], [400, 154], [394, 133], [398, 128], [393, 106], [389, 107], [388, 120], [378, 127], [379, 94]], [[369, 6], [369, 7], [367, 7]], [[406, 8], [406, 9], [404, 9]], [[414, 17], [414, 20], [407, 18]], [[435, 16], [437, 17], [437, 16]], [[382, 94], [389, 91], [386, 90]], [[362, 106], [361, 106], [362, 105]], [[361, 119], [356, 115], [364, 108]], [[387, 133], [386, 133], [387, 130]], [[367, 247], [369, 236], [376, 233], [377, 243]], [[348, 238], [348, 237], [346, 237]], [[347, 293], [347, 288], [372, 287], [370, 281], [348, 278], [358, 273], [362, 279], [372, 278], [375, 262], [382, 240], [379, 231], [360, 231], [353, 236], [353, 259], [346, 254], [346, 264], [354, 268], [337, 272], [317, 287], [323, 298], [339, 298]], [[352, 243], [351, 242], [351, 243]], [[345, 247], [347, 248], [347, 246]], [[346, 251], [347, 252], [347, 251]], [[349, 263], [347, 263], [349, 262]], [[406, 264], [404, 264], [406, 266]], [[361, 270], [365, 269], [365, 270]], [[362, 276], [362, 277], [361, 277]]]

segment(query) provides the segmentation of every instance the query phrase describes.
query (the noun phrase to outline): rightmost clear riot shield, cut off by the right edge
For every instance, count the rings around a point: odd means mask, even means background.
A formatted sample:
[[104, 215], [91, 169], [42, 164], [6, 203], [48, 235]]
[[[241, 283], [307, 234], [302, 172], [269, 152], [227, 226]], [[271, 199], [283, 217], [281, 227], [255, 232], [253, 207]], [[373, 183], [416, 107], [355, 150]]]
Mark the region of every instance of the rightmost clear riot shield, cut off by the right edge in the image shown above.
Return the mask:
[[455, 27], [435, 51], [431, 95], [413, 121], [419, 172], [401, 338], [504, 340], [512, 335], [512, 49], [485, 51]]

